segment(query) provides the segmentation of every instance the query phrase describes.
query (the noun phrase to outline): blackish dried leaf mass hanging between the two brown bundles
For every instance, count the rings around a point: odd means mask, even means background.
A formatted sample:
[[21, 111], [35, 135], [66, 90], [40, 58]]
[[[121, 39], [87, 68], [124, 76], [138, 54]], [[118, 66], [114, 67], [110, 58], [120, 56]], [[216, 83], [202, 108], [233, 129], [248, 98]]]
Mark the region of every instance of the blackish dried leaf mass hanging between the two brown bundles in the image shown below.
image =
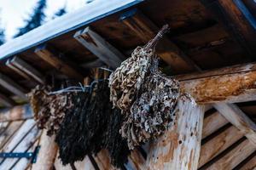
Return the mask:
[[98, 82], [92, 94], [79, 93], [73, 98], [74, 110], [65, 116], [55, 139], [62, 163], [72, 164], [107, 149], [113, 165], [122, 166], [130, 151], [119, 134], [123, 117], [112, 109], [108, 82]]

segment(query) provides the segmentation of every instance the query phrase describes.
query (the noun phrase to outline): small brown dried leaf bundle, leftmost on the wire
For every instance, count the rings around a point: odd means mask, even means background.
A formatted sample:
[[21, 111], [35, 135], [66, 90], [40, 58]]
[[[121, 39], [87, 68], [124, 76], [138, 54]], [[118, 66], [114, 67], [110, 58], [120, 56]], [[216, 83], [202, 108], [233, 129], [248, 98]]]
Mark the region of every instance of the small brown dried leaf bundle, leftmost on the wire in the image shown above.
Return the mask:
[[51, 136], [60, 129], [65, 113], [73, 107], [70, 94], [49, 95], [48, 86], [37, 86], [28, 94], [34, 119], [39, 128], [46, 128]]

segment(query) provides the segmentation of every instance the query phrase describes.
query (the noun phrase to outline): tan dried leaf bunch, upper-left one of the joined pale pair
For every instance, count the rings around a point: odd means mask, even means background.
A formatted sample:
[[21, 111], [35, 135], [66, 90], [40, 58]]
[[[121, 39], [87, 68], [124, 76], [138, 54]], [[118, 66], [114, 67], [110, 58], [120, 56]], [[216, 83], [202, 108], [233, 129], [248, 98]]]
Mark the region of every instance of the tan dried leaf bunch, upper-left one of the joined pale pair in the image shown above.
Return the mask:
[[110, 75], [110, 100], [113, 106], [129, 111], [151, 65], [152, 55], [152, 49], [137, 47], [131, 58], [122, 62]]

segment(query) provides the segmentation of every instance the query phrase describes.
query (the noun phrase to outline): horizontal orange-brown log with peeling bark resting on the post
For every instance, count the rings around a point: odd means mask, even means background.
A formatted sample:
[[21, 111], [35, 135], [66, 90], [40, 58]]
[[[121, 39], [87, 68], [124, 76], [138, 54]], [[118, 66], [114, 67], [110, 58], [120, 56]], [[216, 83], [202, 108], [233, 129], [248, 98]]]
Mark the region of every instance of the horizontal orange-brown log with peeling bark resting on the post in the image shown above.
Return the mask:
[[255, 81], [256, 71], [248, 71], [181, 81], [180, 86], [198, 104], [236, 103], [256, 99]]

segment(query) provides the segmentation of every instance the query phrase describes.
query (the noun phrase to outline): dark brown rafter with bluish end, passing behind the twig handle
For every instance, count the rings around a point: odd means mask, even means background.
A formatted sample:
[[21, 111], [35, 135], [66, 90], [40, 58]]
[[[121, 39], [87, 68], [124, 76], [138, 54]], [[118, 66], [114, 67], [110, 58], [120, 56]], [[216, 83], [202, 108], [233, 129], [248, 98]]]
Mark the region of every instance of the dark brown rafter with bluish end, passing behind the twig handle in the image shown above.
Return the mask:
[[[120, 20], [137, 34], [144, 43], [151, 40], [159, 27], [155, 26], [151, 20], [143, 15], [137, 9], [131, 9], [125, 14], [120, 16]], [[189, 59], [177, 46], [171, 42], [168, 38], [163, 37], [157, 46], [157, 54], [160, 58], [165, 60], [168, 65], [172, 66], [172, 70], [175, 73], [184, 73], [189, 71], [195, 71], [197, 66]]]

